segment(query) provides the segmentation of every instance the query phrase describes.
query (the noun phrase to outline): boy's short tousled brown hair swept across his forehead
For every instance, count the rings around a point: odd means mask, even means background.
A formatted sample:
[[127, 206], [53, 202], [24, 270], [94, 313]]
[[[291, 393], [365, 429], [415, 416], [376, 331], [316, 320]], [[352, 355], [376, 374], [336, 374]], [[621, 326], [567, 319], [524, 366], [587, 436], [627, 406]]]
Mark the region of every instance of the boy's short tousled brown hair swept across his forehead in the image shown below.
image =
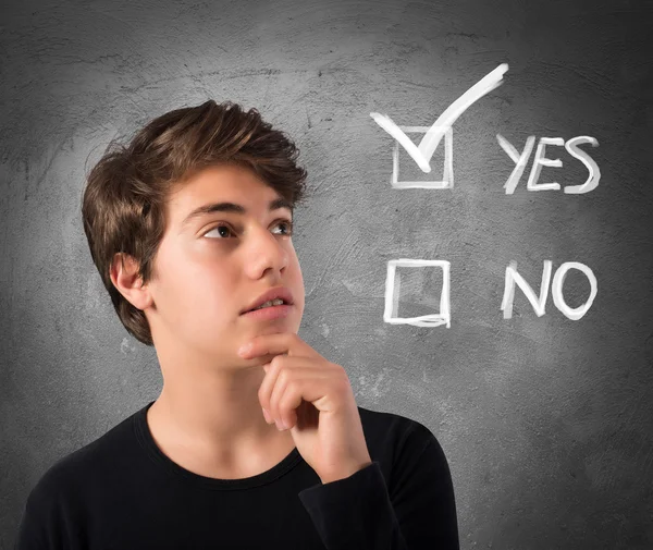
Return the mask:
[[[307, 172], [284, 132], [263, 122], [256, 109], [208, 100], [153, 119], [125, 147], [112, 139], [87, 175], [82, 199], [90, 255], [113, 307], [128, 333], [153, 345], [143, 310], [113, 285], [116, 253], [133, 257], [143, 283], [156, 277], [153, 259], [165, 232], [165, 201], [193, 173], [209, 166], [250, 168], [292, 205], [303, 200]], [[121, 255], [123, 267], [124, 255]]]

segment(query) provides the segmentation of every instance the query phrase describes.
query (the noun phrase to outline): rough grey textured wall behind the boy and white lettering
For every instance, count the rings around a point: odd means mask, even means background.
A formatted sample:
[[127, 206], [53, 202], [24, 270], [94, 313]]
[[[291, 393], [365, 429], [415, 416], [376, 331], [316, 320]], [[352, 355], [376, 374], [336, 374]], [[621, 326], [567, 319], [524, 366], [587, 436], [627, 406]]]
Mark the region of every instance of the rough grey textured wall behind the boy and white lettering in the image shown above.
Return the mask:
[[[56, 460], [160, 391], [155, 351], [126, 333], [90, 259], [85, 169], [116, 134], [209, 98], [256, 107], [299, 147], [299, 334], [346, 367], [359, 405], [435, 433], [463, 548], [652, 548], [650, 5], [4, 2], [0, 549]], [[504, 84], [454, 125], [454, 188], [393, 188], [395, 139], [370, 112], [430, 125], [504, 62]], [[496, 134], [518, 151], [529, 135], [593, 136], [600, 184], [528, 191], [531, 156], [507, 195], [515, 163]], [[546, 150], [563, 167], [540, 183], [587, 179], [564, 148]], [[451, 261], [449, 328], [384, 322], [396, 258]], [[592, 307], [570, 320], [550, 292], [538, 317], [517, 290], [504, 319], [508, 264], [539, 294], [544, 260], [590, 267]], [[426, 277], [405, 273], [399, 316], [438, 307]], [[567, 303], [589, 292], [570, 271]]]

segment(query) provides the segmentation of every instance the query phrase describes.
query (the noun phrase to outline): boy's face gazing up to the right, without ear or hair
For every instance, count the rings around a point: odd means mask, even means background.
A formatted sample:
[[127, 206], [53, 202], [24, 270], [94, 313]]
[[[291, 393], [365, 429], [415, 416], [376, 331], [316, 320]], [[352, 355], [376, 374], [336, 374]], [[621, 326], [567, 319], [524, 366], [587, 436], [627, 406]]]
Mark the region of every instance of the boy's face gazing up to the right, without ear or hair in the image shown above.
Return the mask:
[[[257, 334], [297, 333], [304, 314], [304, 280], [291, 239], [288, 208], [269, 209], [281, 198], [251, 170], [209, 167], [175, 191], [167, 205], [167, 229], [148, 283], [145, 309], [157, 349], [243, 364], [236, 350]], [[234, 203], [246, 213], [196, 208]], [[256, 320], [241, 311], [271, 288], [286, 286], [294, 304], [287, 317]], [[163, 341], [164, 340], [164, 341]], [[224, 360], [223, 360], [224, 359]]]

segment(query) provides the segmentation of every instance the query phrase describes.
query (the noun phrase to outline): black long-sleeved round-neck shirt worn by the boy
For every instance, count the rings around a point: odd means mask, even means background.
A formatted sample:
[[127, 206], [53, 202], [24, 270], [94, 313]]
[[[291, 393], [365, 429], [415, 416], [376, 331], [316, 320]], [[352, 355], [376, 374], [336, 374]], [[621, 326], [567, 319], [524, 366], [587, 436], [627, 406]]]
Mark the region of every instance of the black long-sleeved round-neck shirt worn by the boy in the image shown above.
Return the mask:
[[214, 479], [163, 454], [152, 403], [50, 466], [14, 550], [459, 548], [447, 461], [418, 421], [359, 406], [372, 464], [329, 484], [296, 448], [262, 474]]

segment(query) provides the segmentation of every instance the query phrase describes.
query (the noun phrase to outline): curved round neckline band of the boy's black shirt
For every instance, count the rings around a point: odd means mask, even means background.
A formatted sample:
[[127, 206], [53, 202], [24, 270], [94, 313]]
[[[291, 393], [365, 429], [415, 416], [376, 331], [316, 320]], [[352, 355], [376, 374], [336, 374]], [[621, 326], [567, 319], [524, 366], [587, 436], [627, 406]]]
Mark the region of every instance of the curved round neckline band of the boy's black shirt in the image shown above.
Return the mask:
[[180, 479], [183, 479], [186, 482], [197, 487], [213, 490], [239, 490], [259, 487], [271, 484], [275, 479], [289, 472], [303, 460], [301, 454], [299, 454], [299, 451], [295, 447], [291, 453], [287, 454], [279, 464], [266, 472], [257, 474], [256, 476], [244, 477], [239, 479], [217, 479], [196, 474], [172, 461], [163, 453], [163, 451], [161, 451], [161, 449], [159, 449], [159, 445], [157, 445], [157, 442], [155, 441], [155, 438], [149, 429], [149, 425], [147, 424], [147, 411], [150, 406], [152, 406], [153, 403], [155, 401], [150, 401], [134, 415], [133, 426], [138, 442], [146, 451], [148, 456], [159, 467], [163, 468], [170, 475], [177, 476]]

